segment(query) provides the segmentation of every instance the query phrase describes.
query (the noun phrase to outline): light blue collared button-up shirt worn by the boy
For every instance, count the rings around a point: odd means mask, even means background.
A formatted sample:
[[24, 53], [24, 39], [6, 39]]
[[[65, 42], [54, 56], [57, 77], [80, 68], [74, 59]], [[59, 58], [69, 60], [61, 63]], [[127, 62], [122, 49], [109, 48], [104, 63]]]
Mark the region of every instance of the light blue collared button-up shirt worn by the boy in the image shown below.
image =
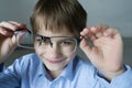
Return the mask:
[[0, 73], [0, 88], [132, 88], [132, 69], [108, 82], [90, 63], [76, 56], [52, 80], [36, 54], [16, 59]]

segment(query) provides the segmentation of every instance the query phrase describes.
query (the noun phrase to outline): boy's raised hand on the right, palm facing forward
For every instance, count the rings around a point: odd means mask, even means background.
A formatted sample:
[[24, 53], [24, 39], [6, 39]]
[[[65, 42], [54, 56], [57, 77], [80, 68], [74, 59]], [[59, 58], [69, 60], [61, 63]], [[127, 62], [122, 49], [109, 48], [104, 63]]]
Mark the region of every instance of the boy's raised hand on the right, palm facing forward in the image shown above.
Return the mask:
[[80, 35], [87, 36], [92, 43], [91, 46], [86, 38], [82, 38], [80, 48], [107, 79], [111, 80], [124, 72], [123, 43], [116, 29], [103, 25], [86, 28]]

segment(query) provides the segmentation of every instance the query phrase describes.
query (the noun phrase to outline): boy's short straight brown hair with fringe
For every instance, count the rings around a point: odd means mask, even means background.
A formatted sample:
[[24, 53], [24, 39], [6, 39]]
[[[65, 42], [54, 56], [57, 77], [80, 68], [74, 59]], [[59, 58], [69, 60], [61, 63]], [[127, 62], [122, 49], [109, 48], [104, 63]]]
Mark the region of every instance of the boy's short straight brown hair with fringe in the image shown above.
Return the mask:
[[78, 35], [86, 26], [87, 12], [77, 0], [38, 0], [31, 15], [33, 32], [44, 26], [53, 32], [65, 26]]

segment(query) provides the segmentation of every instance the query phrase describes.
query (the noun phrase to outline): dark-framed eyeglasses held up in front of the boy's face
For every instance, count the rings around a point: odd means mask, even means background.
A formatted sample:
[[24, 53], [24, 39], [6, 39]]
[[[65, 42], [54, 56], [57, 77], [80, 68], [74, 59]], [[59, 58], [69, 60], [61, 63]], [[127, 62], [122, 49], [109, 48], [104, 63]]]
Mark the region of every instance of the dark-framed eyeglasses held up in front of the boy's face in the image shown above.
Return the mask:
[[[16, 34], [18, 32], [15, 32]], [[79, 38], [72, 36], [43, 36], [28, 31], [18, 43], [18, 46], [33, 50], [35, 45], [42, 47], [44, 52], [56, 48], [62, 53], [74, 53], [79, 41]]]

